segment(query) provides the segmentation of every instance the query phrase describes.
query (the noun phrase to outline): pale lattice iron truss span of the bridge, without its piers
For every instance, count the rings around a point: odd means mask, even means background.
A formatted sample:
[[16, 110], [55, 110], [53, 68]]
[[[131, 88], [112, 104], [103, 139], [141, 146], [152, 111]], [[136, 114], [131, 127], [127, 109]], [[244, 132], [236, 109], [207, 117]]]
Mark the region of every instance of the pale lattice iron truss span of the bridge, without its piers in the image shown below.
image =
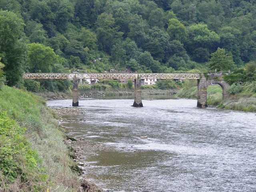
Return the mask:
[[200, 73], [24, 73], [24, 79], [200, 79]]

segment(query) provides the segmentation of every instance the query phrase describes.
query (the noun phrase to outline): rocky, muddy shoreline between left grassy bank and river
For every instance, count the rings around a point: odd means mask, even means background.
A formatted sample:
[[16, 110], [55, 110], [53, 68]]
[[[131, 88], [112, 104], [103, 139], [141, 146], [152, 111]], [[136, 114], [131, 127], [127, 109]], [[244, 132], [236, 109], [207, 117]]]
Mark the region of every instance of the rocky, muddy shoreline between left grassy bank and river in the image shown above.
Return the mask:
[[[86, 170], [87, 167], [90, 166], [88, 163], [86, 163], [86, 158], [89, 154], [94, 153], [96, 150], [108, 150], [108, 146], [102, 145], [102, 144], [92, 144], [85, 138], [72, 138], [68, 134], [69, 132], [66, 129], [65, 126], [62, 124], [65, 122], [75, 122], [72, 120], [67, 120], [64, 118], [66, 115], [78, 115], [78, 114], [84, 114], [84, 109], [82, 108], [70, 108], [68, 107], [68, 110], [66, 107], [52, 107], [52, 110], [58, 115], [58, 123], [59, 126], [64, 129], [66, 133], [66, 140], [64, 141], [68, 148], [70, 148], [70, 156], [73, 158], [74, 162], [76, 162], [77, 167], [74, 168], [76, 172], [78, 172], [78, 175], [80, 176], [80, 180], [82, 181], [80, 190], [78, 192], [103, 192], [101, 188], [96, 186], [96, 184], [90, 182], [86, 178]], [[82, 121], [82, 119], [80, 119]]]

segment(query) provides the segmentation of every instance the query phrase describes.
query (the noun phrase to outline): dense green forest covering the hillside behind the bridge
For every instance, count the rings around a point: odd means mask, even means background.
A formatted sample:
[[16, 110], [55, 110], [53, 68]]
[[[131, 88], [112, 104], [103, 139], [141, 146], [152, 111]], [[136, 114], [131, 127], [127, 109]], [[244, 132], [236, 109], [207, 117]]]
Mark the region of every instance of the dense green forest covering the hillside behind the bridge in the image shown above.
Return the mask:
[[[256, 65], [256, 0], [0, 1], [9, 86], [36, 87], [23, 72], [206, 71], [218, 54], [229, 63], [220, 70]], [[48, 90], [69, 83], [40, 82]]]

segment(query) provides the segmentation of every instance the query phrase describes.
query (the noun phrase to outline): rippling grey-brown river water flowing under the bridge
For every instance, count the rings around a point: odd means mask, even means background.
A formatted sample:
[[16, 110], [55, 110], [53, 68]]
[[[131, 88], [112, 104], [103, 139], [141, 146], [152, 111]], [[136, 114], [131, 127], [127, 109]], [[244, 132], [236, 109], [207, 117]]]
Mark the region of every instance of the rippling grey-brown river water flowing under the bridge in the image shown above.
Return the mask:
[[65, 124], [72, 136], [110, 146], [88, 156], [87, 178], [110, 192], [256, 191], [255, 113], [200, 109], [187, 99], [142, 102], [80, 100], [86, 113], [68, 116], [77, 120]]

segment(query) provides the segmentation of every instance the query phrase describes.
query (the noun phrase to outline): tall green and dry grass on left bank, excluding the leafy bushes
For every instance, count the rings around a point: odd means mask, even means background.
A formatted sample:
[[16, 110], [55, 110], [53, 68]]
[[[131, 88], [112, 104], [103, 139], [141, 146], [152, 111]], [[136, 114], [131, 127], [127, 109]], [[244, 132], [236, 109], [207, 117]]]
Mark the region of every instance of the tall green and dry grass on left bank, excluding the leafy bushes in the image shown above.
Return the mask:
[[[0, 112], [4, 111], [20, 127], [27, 128], [25, 137], [38, 152], [44, 173], [48, 175], [48, 180], [42, 184], [45, 190], [76, 191], [79, 183], [76, 174], [70, 169], [74, 162], [69, 158], [69, 151], [63, 142], [64, 133], [44, 99], [27, 91], [4, 86], [0, 91]], [[27, 190], [18, 183], [20, 181], [17, 179], [16, 182], [4, 184], [4, 190]], [[31, 183], [38, 185], [36, 180]]]

